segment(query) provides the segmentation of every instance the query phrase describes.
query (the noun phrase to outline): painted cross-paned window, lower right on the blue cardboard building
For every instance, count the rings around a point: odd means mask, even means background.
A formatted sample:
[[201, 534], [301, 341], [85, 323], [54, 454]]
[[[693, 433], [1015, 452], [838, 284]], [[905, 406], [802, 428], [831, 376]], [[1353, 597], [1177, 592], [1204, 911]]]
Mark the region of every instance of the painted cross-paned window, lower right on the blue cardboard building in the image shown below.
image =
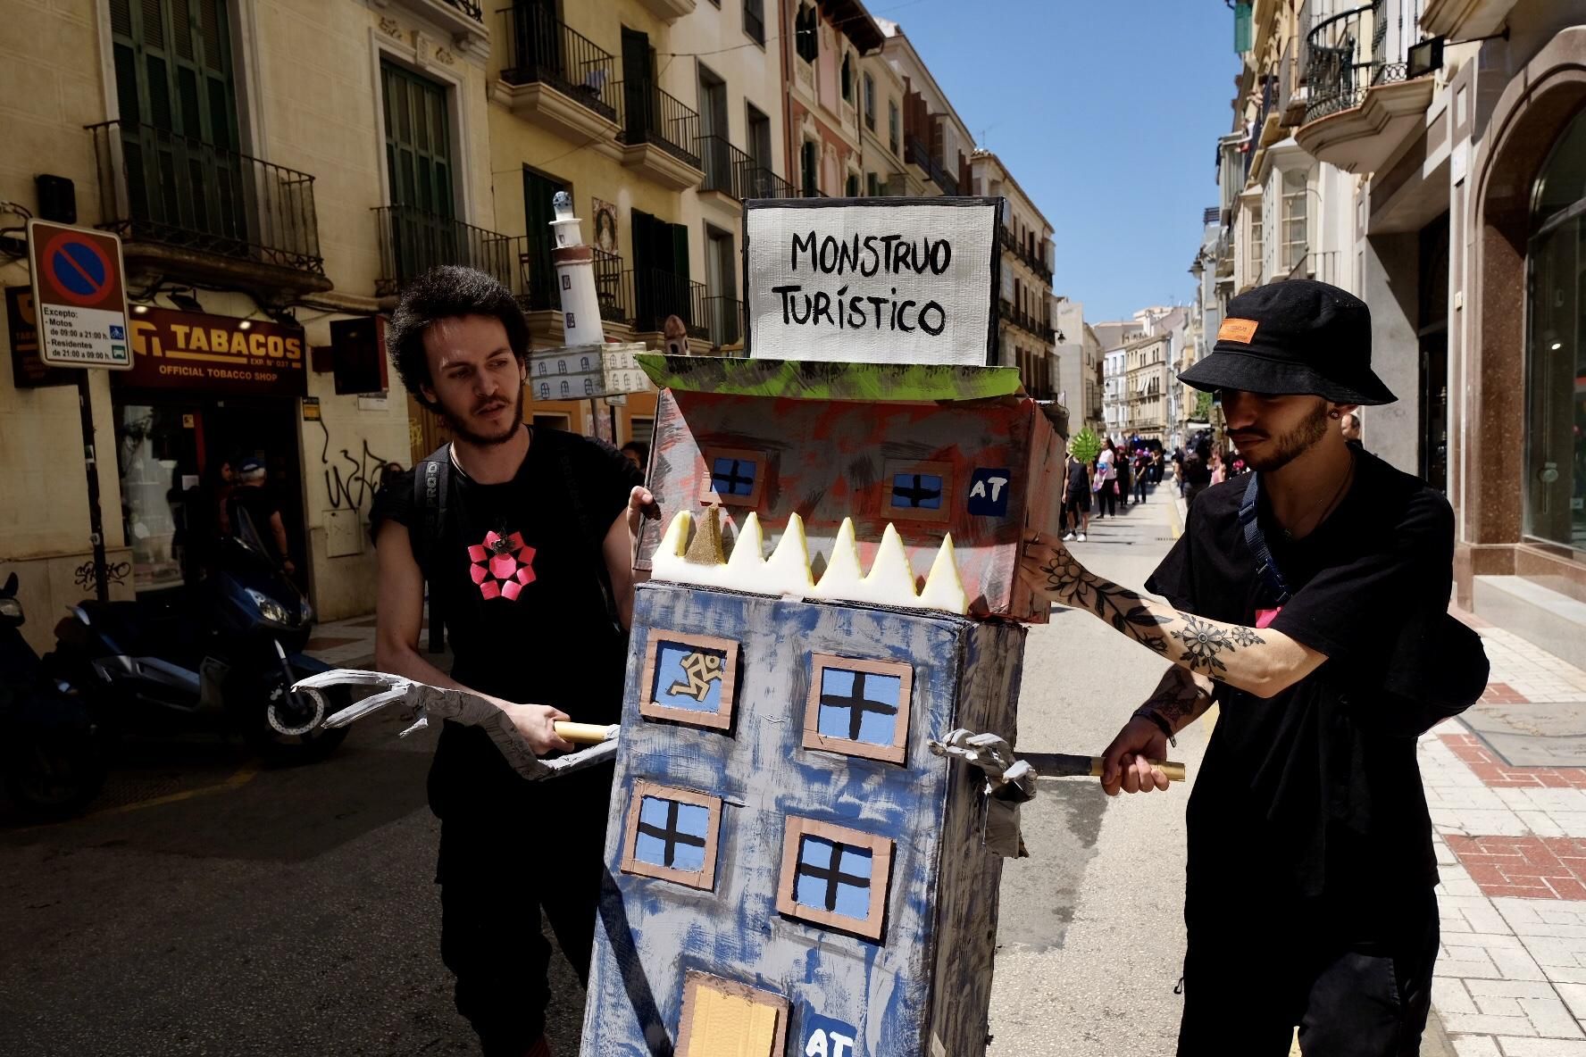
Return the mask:
[[790, 816], [782, 841], [777, 911], [871, 940], [882, 938], [893, 841]]

